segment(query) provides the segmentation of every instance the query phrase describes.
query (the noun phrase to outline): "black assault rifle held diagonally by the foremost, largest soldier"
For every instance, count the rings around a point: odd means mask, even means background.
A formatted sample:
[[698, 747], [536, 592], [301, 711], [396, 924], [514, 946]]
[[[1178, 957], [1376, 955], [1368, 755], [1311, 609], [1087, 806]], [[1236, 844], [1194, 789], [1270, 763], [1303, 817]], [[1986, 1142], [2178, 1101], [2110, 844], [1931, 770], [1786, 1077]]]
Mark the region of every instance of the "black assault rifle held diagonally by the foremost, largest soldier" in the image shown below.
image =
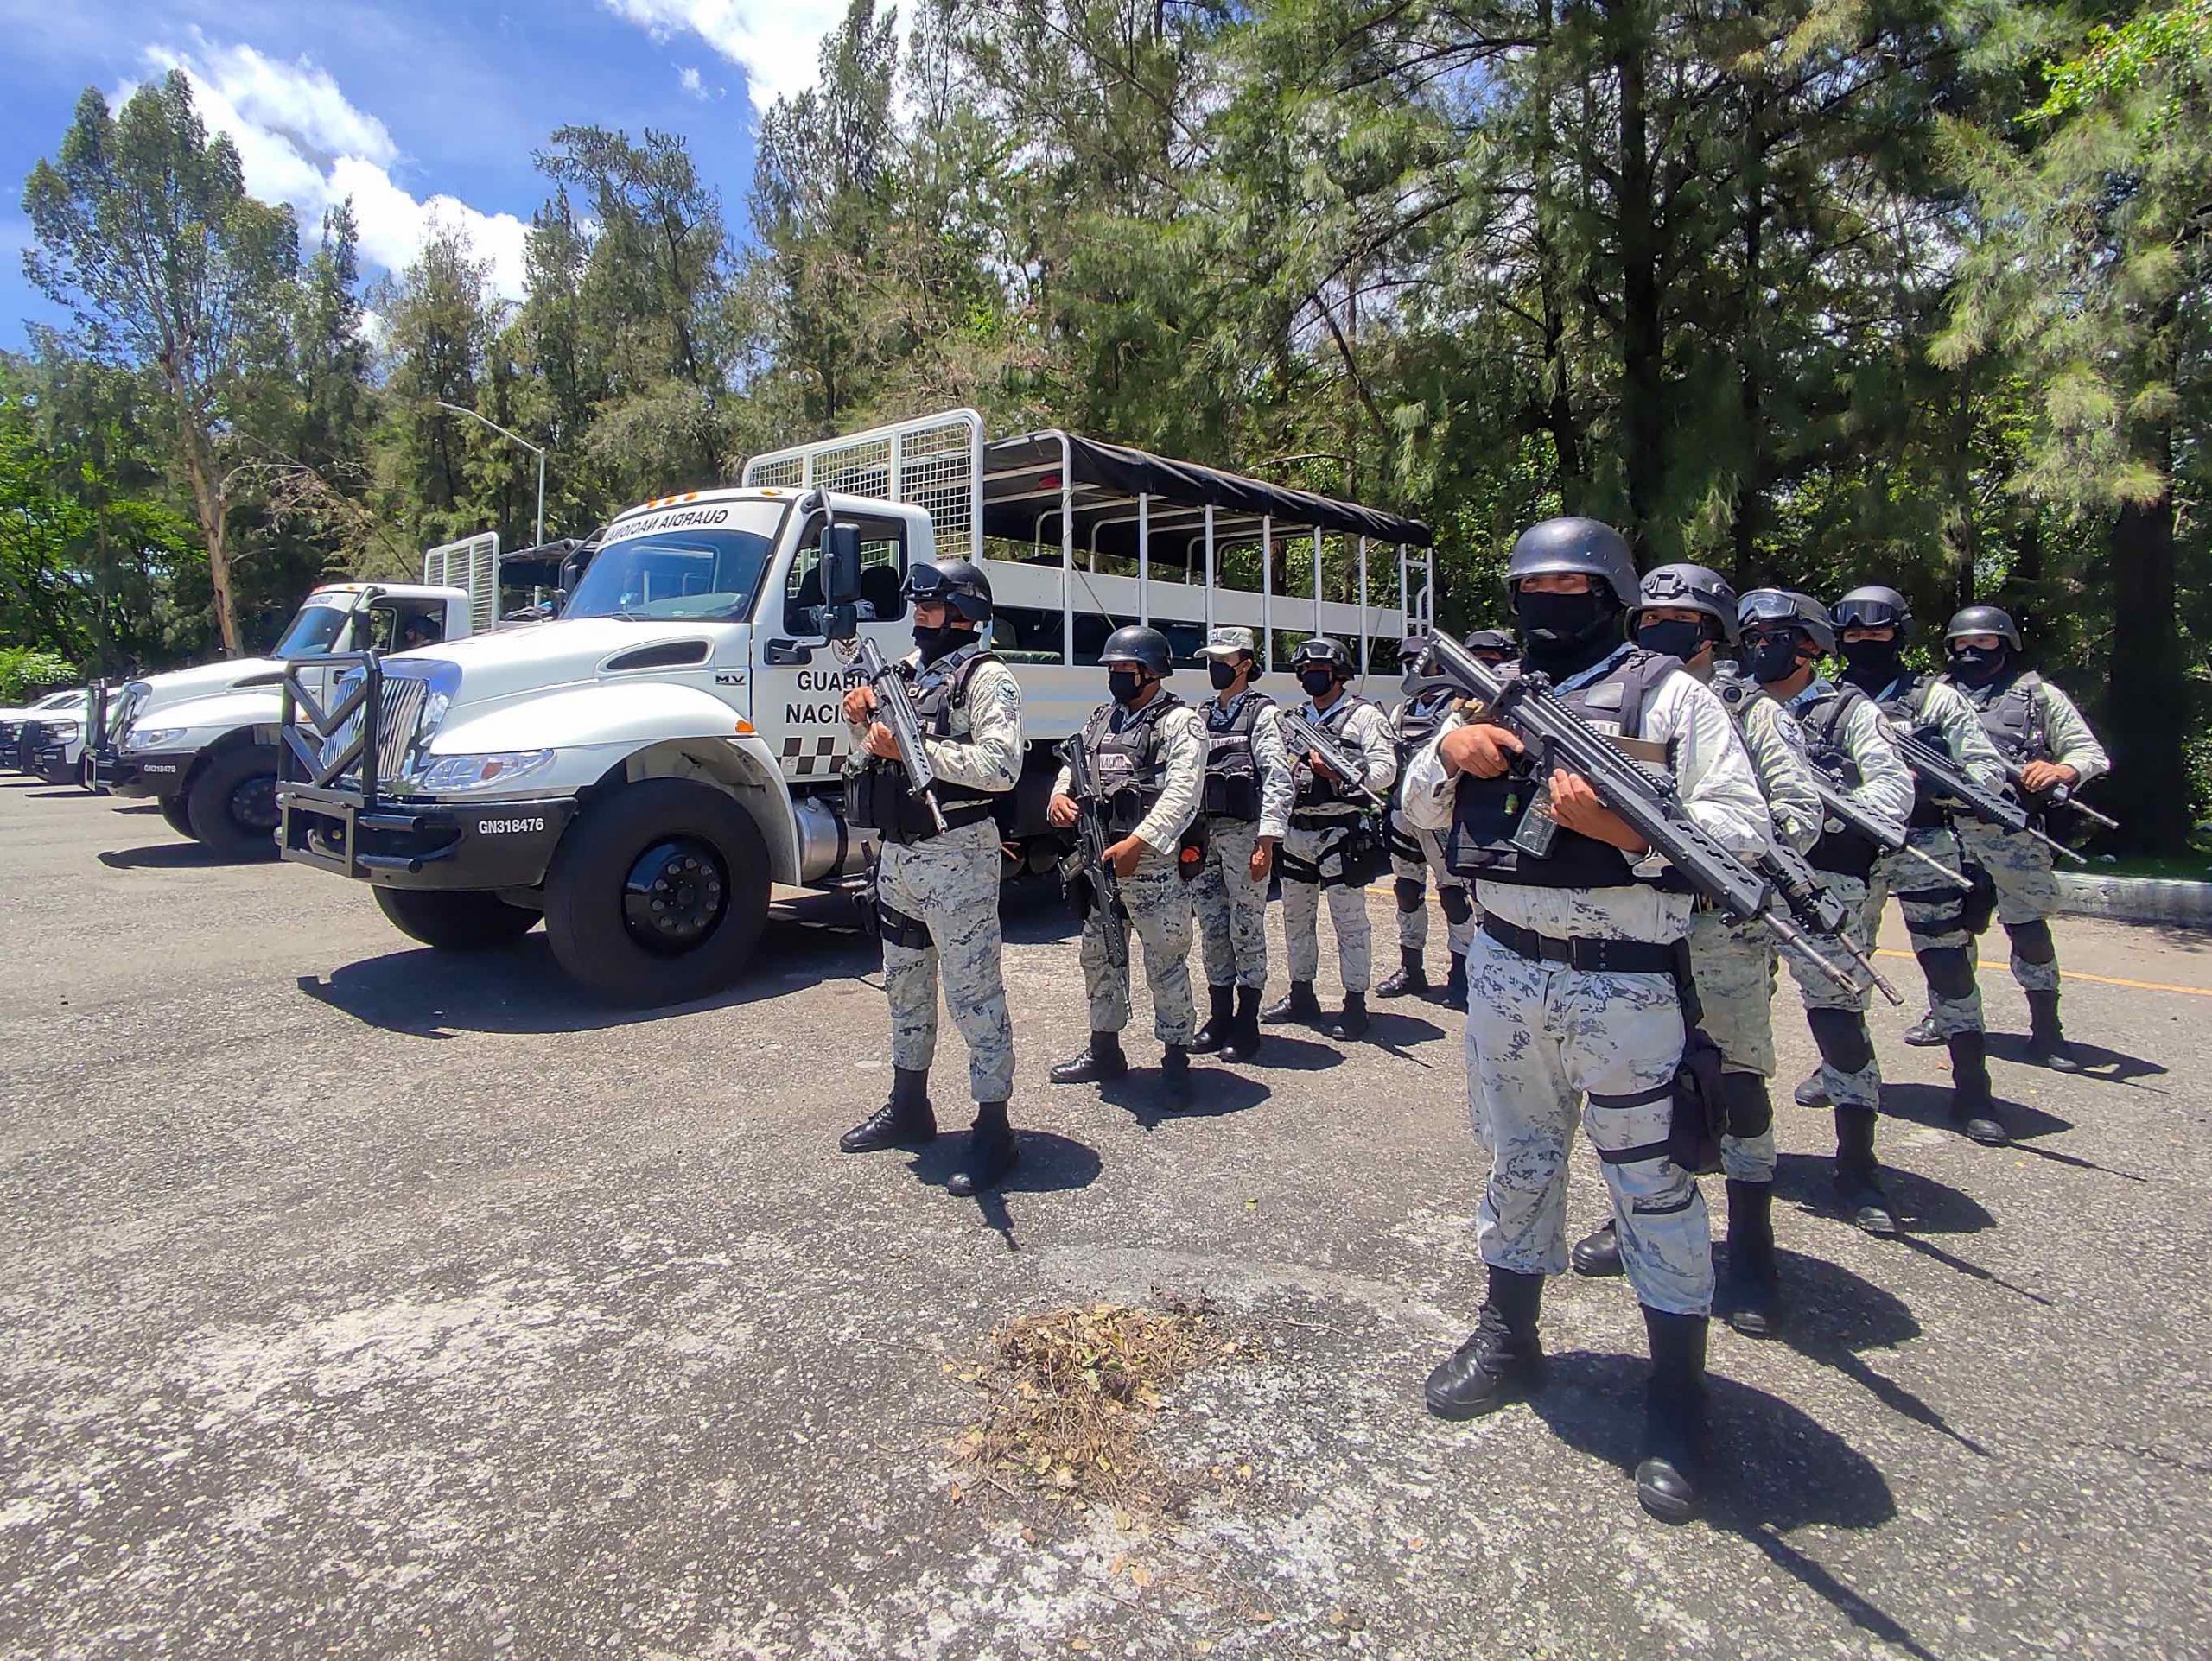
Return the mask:
[[1553, 767], [1582, 774], [1597, 798], [1657, 854], [1666, 856], [1668, 865], [1681, 871], [1690, 887], [1719, 907], [1730, 922], [1763, 922], [1781, 936], [1783, 944], [1801, 951], [1838, 986], [1858, 989], [1847, 969], [1825, 958], [1796, 922], [1781, 916], [1787, 900], [1776, 885], [1712, 840], [1690, 818], [1674, 794], [1674, 781], [1630, 759], [1562, 703], [1551, 690], [1548, 675], [1504, 677], [1471, 657], [1449, 635], [1429, 637], [1427, 661], [1460, 692], [1478, 699], [1491, 721], [1522, 741], [1535, 774], [1548, 779]]

